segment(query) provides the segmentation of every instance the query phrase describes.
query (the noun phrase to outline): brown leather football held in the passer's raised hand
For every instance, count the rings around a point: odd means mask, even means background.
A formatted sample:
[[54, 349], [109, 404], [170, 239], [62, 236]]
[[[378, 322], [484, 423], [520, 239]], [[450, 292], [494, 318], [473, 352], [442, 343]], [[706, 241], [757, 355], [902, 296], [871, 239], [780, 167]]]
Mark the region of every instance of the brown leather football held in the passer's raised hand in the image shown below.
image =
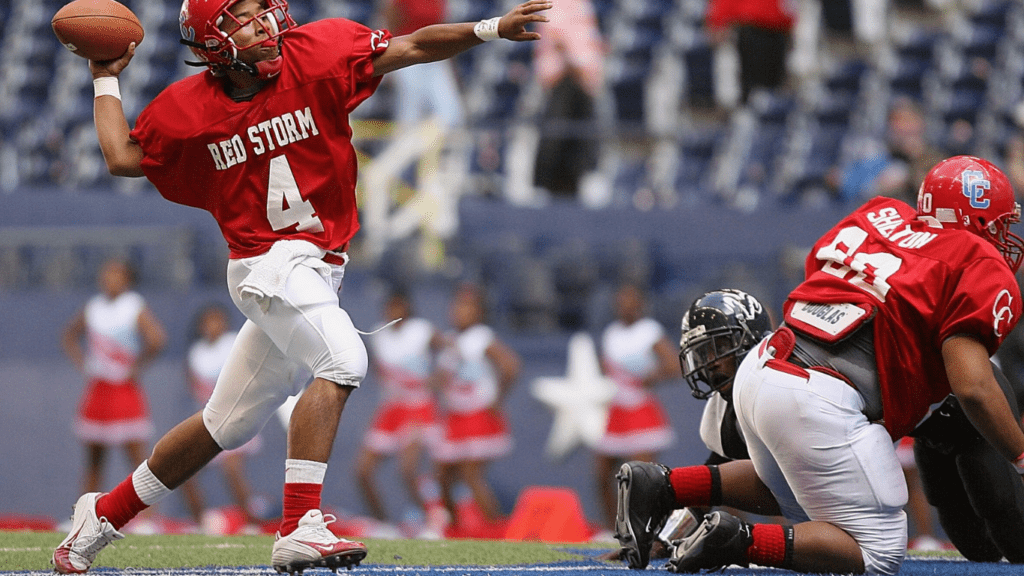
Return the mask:
[[115, 0], [74, 0], [53, 14], [53, 34], [69, 50], [90, 60], [121, 56], [142, 42], [142, 25]]

